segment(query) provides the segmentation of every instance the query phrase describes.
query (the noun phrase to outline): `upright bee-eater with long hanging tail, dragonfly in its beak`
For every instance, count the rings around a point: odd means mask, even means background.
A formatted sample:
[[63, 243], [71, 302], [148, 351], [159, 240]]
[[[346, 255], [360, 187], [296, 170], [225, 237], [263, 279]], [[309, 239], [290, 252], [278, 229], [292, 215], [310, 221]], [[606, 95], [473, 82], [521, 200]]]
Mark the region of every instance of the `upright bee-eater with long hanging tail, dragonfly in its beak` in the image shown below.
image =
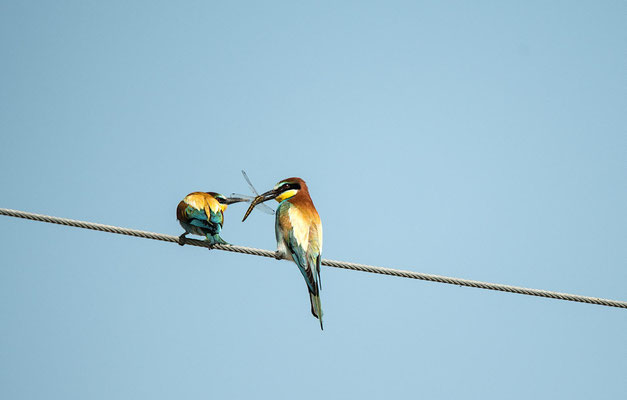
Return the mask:
[[272, 190], [257, 196], [248, 207], [242, 221], [246, 220], [257, 204], [271, 199], [279, 202], [275, 220], [276, 258], [287, 258], [298, 266], [309, 290], [311, 313], [320, 320], [320, 329], [323, 329], [320, 304], [322, 257], [320, 216], [311, 201], [305, 181], [300, 178], [288, 178], [277, 183]]

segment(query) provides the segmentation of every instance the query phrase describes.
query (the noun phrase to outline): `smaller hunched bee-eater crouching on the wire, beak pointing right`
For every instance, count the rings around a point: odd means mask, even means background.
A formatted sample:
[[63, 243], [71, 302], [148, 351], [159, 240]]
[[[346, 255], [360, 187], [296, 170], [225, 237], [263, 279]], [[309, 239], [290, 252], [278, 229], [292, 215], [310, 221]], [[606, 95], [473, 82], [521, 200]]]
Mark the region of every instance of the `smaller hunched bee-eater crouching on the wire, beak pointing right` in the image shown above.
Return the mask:
[[209, 244], [228, 244], [220, 237], [224, 224], [224, 211], [229, 204], [245, 201], [241, 198], [227, 198], [215, 192], [190, 193], [176, 208], [176, 219], [185, 232], [179, 236], [179, 244], [185, 244], [185, 235], [205, 236]]

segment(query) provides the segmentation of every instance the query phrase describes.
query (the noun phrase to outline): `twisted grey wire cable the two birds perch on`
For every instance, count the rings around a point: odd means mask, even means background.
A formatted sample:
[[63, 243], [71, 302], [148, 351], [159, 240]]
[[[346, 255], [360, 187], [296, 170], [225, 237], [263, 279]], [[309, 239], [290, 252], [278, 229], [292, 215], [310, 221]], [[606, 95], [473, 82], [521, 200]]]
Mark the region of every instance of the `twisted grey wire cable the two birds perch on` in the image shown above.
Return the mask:
[[[41, 221], [41, 222], [47, 222], [47, 223], [52, 223], [52, 224], [73, 226], [76, 228], [84, 228], [84, 229], [92, 229], [92, 230], [102, 231], [102, 232], [117, 233], [119, 235], [128, 235], [128, 236], [141, 237], [145, 239], [161, 240], [164, 242], [178, 243], [179, 241], [178, 236], [140, 231], [140, 230], [129, 229], [129, 228], [120, 228], [120, 227], [112, 226], [112, 225], [96, 224], [93, 222], [78, 221], [74, 219], [52, 217], [49, 215], [34, 214], [34, 213], [25, 212], [25, 211], [11, 210], [7, 208], [0, 208], [0, 215], [30, 219], [33, 221]], [[204, 240], [185, 238], [185, 244], [188, 244], [191, 246], [198, 246], [198, 247], [209, 247], [207, 242]], [[273, 251], [255, 249], [252, 247], [216, 244], [212, 247], [212, 249], [231, 251], [234, 253], [249, 254], [253, 256], [271, 257], [271, 258], [275, 257], [275, 252]], [[334, 261], [334, 260], [323, 259], [321, 263], [322, 265], [326, 265], [329, 267], [350, 269], [353, 271], [363, 271], [363, 272], [370, 272], [374, 274], [399, 276], [403, 278], [420, 279], [424, 281], [448, 283], [450, 285], [468, 286], [468, 287], [474, 287], [474, 288], [480, 288], [480, 289], [498, 290], [501, 292], [518, 293], [518, 294], [524, 294], [528, 296], [548, 297], [551, 299], [576, 301], [580, 303], [597, 304], [597, 305], [608, 306], [608, 307], [627, 308], [627, 301], [580, 296], [576, 294], [559, 293], [559, 292], [553, 292], [549, 290], [529, 289], [529, 288], [523, 288], [523, 287], [518, 287], [518, 286], [502, 285], [498, 283], [473, 281], [469, 279], [450, 278], [450, 277], [441, 276], [441, 275], [424, 274], [420, 272], [406, 271], [406, 270], [392, 269], [392, 268], [385, 268], [385, 267], [375, 267], [372, 265], [356, 264], [356, 263], [350, 263], [350, 262], [345, 262], [345, 261]]]

